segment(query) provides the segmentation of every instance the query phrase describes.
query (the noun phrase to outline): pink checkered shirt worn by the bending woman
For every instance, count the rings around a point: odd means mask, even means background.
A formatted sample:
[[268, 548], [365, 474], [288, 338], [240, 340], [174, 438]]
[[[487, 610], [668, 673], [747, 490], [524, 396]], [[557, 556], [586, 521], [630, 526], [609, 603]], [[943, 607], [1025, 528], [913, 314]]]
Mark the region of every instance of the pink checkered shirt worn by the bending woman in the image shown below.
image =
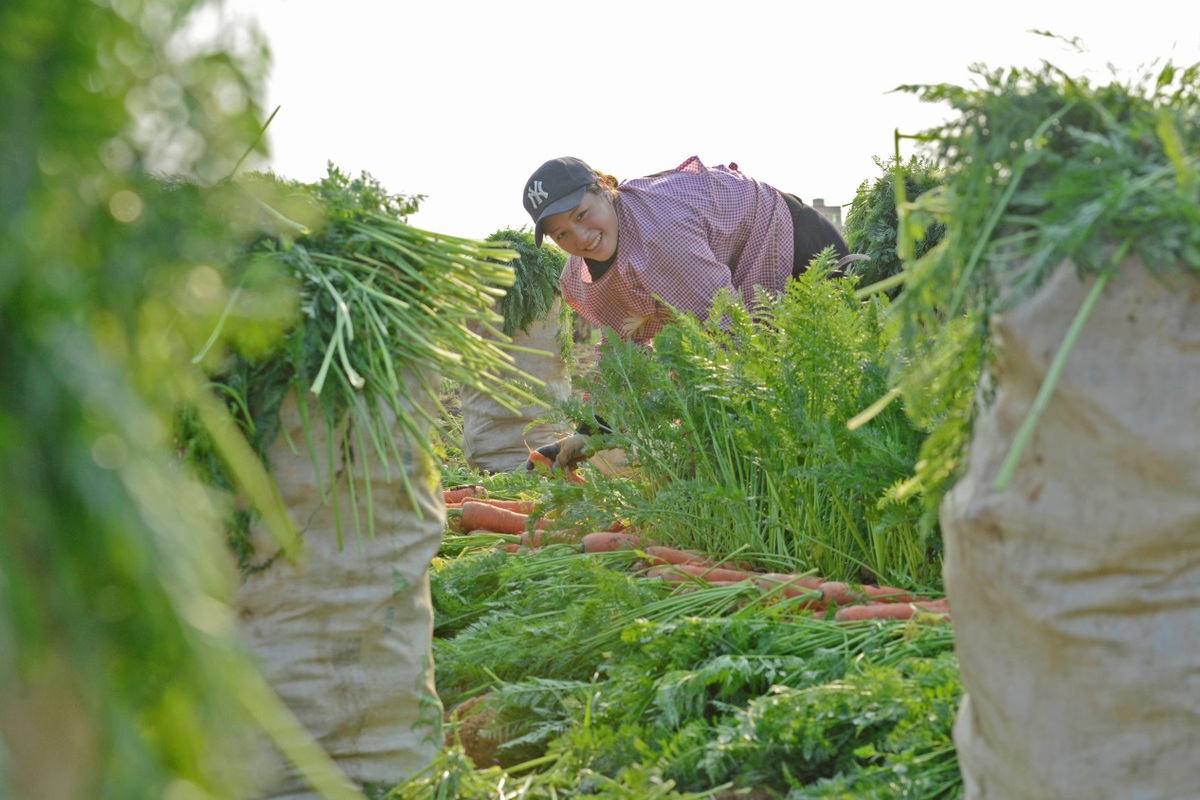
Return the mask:
[[781, 291], [792, 275], [787, 204], [736, 164], [708, 168], [692, 156], [664, 175], [624, 181], [614, 205], [617, 260], [593, 282], [572, 255], [560, 283], [571, 308], [622, 338], [649, 342], [670, 308], [706, 317], [721, 289], [749, 306], [757, 287]]

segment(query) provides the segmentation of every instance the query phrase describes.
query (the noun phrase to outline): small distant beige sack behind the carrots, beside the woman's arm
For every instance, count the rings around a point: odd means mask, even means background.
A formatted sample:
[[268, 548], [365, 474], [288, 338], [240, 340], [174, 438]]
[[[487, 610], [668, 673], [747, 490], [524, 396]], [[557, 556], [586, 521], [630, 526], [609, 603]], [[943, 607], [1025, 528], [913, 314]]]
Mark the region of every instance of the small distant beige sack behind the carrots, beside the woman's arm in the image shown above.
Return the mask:
[[[554, 301], [545, 319], [533, 323], [528, 331], [517, 330], [512, 336], [514, 344], [540, 351], [540, 355], [515, 353], [515, 366], [521, 372], [545, 381], [546, 386], [541, 391], [548, 401], [563, 401], [571, 393], [571, 375], [558, 341], [560, 308], [559, 299]], [[488, 336], [482, 330], [476, 329], [476, 332]], [[460, 403], [462, 455], [473, 468], [487, 473], [524, 469], [529, 449], [536, 450], [570, 433], [548, 422], [529, 427], [534, 420], [547, 413], [548, 409], [544, 407], [527, 405], [518, 414], [514, 414], [490, 397], [468, 387], [463, 387]]]

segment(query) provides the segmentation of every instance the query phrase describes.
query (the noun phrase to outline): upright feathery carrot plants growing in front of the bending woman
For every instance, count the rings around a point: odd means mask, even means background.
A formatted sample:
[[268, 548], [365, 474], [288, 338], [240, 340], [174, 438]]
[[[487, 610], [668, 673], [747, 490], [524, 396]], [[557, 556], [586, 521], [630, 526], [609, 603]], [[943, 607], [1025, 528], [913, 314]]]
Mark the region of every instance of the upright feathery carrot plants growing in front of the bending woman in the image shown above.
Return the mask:
[[[824, 263], [828, 269], [828, 260]], [[851, 431], [886, 391], [886, 299], [818, 264], [754, 314], [728, 297], [680, 315], [653, 349], [612, 341], [589, 383], [636, 481], [575, 489], [667, 543], [744, 553], [787, 571], [937, 583], [936, 523], [912, 495], [923, 433], [899, 409]], [[583, 504], [586, 505], [586, 504]]]

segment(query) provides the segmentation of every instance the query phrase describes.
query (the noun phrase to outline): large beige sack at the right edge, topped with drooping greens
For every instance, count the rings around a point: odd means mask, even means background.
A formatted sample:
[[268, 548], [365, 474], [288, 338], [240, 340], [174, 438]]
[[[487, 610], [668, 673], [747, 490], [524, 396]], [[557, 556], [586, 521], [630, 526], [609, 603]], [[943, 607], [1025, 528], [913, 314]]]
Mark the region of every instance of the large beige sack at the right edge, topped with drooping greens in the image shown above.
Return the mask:
[[1064, 265], [995, 321], [942, 506], [968, 800], [1200, 796], [1200, 281], [1121, 266], [995, 488], [1093, 283]]

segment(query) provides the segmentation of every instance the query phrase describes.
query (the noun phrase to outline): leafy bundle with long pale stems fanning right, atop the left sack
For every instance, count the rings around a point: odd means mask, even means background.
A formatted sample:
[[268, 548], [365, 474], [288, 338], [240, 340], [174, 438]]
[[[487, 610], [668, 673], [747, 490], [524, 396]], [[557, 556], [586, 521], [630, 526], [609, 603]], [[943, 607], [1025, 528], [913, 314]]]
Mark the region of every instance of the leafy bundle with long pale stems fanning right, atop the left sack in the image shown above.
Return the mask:
[[[514, 367], [506, 350], [511, 341], [503, 335], [485, 339], [468, 329], [499, 321], [492, 307], [512, 283], [508, 263], [516, 254], [506, 242], [475, 242], [413, 228], [404, 217], [416, 210], [420, 198], [391, 194], [371, 175], [350, 178], [332, 164], [314, 184], [260, 174], [244, 186], [256, 198], [259, 235], [230, 259], [238, 289], [214, 335], [253, 302], [258, 294], [251, 290], [262, 275], [277, 276], [283, 284], [290, 315], [282, 319], [272, 343], [246, 347], [242, 337], [234, 347], [205, 349], [197, 359], [206, 367], [210, 390], [260, 457], [278, 434], [284, 399], [311, 397], [319, 419], [305, 420], [310, 456], [314, 468], [323, 459], [330, 462], [318, 475], [334, 474], [331, 462], [340, 455], [316, 452], [308, 426], [316, 422], [332, 433], [349, 419], [359, 444], [373, 450], [388, 470], [385, 479], [404, 481], [412, 495], [415, 488], [407, 486], [406, 470], [396, 469], [389, 419], [395, 416], [403, 435], [433, 458], [431, 438], [419, 421], [436, 426], [445, 417], [425, 410], [440, 403], [442, 379], [475, 387], [512, 409], [542, 405], [524, 387], [536, 380]], [[440, 433], [452, 437], [451, 431]], [[220, 453], [187, 409], [178, 435], [185, 456], [211, 485], [232, 486]], [[354, 487], [350, 481], [350, 491]], [[356, 504], [350, 507], [355, 533], [373, 535], [370, 506], [365, 521], [358, 518]], [[235, 506], [228, 523], [242, 570], [266, 566], [247, 561], [248, 523], [257, 511]], [[338, 530], [340, 541], [342, 535]]]

